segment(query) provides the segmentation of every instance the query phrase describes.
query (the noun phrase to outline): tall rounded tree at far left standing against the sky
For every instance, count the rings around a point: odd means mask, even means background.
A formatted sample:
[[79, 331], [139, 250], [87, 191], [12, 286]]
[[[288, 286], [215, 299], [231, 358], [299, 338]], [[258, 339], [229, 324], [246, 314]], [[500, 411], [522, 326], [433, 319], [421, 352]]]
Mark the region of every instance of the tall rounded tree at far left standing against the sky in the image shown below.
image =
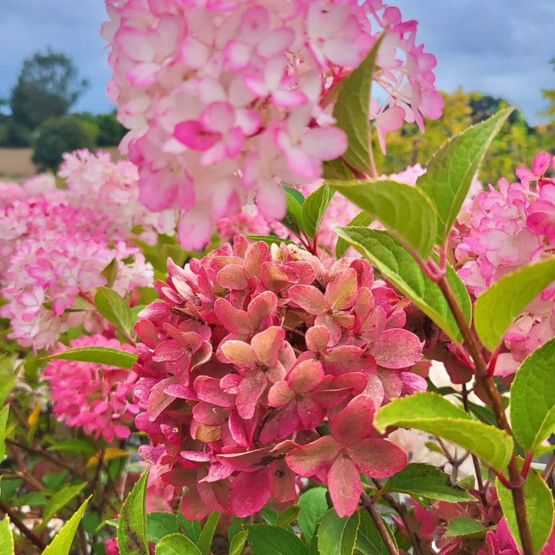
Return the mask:
[[50, 117], [69, 111], [88, 87], [86, 79], [64, 53], [48, 49], [37, 52], [23, 63], [10, 95], [12, 119], [18, 126], [34, 130]]

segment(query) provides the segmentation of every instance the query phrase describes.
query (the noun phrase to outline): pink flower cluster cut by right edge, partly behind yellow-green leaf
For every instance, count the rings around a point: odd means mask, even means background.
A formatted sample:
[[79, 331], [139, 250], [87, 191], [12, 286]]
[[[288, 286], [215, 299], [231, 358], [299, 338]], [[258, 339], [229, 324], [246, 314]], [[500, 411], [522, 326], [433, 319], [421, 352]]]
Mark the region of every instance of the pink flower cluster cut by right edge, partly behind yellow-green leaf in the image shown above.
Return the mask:
[[[517, 168], [518, 181], [502, 178], [479, 193], [472, 210], [459, 216], [454, 234], [458, 273], [479, 296], [506, 273], [555, 252], [555, 158], [539, 153], [531, 169]], [[497, 359], [497, 375], [515, 372], [527, 355], [555, 336], [555, 287], [545, 289], [505, 336], [509, 353]]]

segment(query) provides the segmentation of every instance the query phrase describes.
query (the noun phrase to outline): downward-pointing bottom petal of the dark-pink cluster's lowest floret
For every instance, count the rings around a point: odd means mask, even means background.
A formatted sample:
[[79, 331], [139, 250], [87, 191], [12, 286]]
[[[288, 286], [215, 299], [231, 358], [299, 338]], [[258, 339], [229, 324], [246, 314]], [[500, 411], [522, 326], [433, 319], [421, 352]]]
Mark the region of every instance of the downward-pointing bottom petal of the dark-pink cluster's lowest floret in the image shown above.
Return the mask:
[[362, 486], [359, 471], [347, 457], [339, 456], [332, 464], [327, 475], [327, 487], [340, 517], [350, 516], [357, 510]]

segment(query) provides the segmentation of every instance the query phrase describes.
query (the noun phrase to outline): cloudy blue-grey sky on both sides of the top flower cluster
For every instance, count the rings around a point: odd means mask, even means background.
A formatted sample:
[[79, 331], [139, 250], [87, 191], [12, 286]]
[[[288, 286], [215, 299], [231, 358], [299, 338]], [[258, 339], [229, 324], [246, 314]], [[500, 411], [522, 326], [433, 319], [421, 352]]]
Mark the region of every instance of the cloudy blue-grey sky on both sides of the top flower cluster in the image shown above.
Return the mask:
[[[51, 46], [73, 58], [90, 87], [76, 110], [114, 107], [105, 88], [110, 68], [99, 36], [102, 0], [0, 0], [0, 98], [22, 62]], [[538, 123], [541, 89], [555, 89], [555, 0], [391, 0], [404, 19], [417, 19], [418, 42], [438, 59], [436, 84], [502, 96]]]

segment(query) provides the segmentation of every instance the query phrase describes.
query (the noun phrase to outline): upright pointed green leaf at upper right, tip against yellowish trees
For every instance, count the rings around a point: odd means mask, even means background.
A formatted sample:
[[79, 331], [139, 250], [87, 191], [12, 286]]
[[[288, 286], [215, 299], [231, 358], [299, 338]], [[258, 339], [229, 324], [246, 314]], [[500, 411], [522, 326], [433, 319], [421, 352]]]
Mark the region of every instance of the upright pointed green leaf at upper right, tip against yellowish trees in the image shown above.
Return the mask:
[[438, 214], [437, 242], [443, 245], [468, 194], [472, 178], [495, 135], [514, 108], [497, 112], [486, 121], [463, 131], [436, 152], [426, 164], [427, 172], [416, 185], [436, 205]]

